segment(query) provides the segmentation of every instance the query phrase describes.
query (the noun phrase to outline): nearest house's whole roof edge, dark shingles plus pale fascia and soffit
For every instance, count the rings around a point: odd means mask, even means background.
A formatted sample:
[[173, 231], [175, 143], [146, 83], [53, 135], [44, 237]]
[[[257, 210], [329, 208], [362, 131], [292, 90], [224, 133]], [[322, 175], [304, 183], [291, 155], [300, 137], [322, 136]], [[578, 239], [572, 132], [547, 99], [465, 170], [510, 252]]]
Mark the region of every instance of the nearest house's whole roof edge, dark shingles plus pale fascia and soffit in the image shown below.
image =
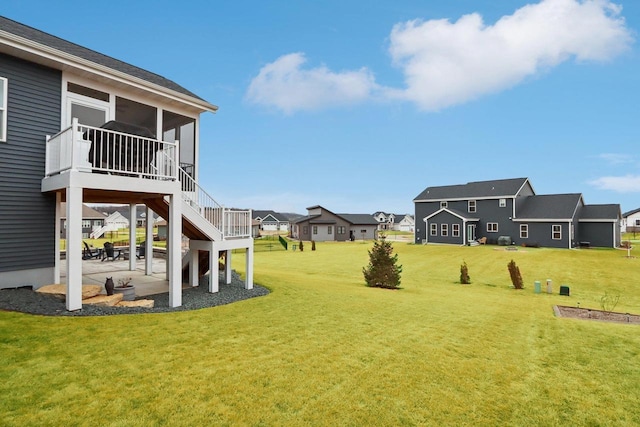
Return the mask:
[[91, 72], [98, 74], [106, 71], [112, 76], [125, 77], [133, 83], [143, 82], [147, 86], [162, 88], [164, 93], [169, 91], [179, 94], [183, 100], [187, 97], [204, 111], [215, 112], [218, 109], [215, 105], [159, 74], [0, 16], [0, 52], [5, 51], [20, 57], [46, 58], [45, 65], [57, 65], [54, 68], [62, 69], [71, 66], [86, 69], [89, 67]]

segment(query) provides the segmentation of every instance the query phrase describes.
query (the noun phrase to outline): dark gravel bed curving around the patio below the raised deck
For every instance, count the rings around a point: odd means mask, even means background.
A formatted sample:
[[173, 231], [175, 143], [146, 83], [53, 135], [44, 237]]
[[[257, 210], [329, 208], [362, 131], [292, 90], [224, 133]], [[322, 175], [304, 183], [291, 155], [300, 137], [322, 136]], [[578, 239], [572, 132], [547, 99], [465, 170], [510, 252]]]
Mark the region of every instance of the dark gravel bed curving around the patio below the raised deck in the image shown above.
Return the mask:
[[269, 290], [262, 286], [253, 285], [253, 289], [245, 289], [244, 282], [234, 271], [231, 284], [223, 284], [220, 276], [219, 291], [215, 294], [208, 292], [209, 276], [200, 280], [200, 286], [183, 289], [182, 305], [169, 307], [169, 293], [147, 295], [137, 299], [154, 300], [153, 308], [140, 307], [98, 307], [83, 305], [82, 310], [67, 311], [64, 300], [52, 295], [43, 295], [34, 292], [31, 287], [0, 289], [0, 310], [19, 311], [22, 313], [40, 314], [45, 316], [108, 316], [112, 314], [136, 314], [136, 313], [169, 313], [175, 311], [198, 310], [201, 308], [215, 307], [231, 304], [267, 295]]

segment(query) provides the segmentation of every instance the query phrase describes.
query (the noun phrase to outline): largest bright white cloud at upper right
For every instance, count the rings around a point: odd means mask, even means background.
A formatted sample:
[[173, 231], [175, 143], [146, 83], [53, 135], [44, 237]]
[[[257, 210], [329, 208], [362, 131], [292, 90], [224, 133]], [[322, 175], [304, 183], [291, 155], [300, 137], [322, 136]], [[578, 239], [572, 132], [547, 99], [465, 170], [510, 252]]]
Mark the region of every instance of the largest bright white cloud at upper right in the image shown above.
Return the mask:
[[486, 26], [473, 13], [394, 26], [391, 56], [405, 74], [396, 96], [439, 110], [512, 87], [575, 57], [604, 61], [632, 42], [621, 8], [604, 0], [545, 0]]

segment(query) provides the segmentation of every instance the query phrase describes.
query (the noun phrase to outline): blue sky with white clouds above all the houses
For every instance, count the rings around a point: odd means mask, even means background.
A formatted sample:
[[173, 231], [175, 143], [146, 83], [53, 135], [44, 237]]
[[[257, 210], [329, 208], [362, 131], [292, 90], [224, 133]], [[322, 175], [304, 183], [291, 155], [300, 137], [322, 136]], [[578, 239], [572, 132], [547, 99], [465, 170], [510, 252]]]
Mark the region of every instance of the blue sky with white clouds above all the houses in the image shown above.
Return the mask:
[[640, 207], [640, 2], [4, 0], [0, 13], [219, 106], [200, 182], [233, 207], [412, 213], [529, 177]]

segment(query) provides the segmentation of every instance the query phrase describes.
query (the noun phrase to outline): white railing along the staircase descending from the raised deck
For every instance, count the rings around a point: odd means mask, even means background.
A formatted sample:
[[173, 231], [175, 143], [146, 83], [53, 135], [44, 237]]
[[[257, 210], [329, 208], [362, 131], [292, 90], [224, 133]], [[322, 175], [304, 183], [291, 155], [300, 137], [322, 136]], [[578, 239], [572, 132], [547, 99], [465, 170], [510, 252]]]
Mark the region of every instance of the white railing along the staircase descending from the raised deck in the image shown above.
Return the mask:
[[182, 199], [220, 230], [223, 238], [251, 237], [250, 210], [229, 209], [220, 205], [182, 168], [179, 168], [179, 179], [182, 183]]

